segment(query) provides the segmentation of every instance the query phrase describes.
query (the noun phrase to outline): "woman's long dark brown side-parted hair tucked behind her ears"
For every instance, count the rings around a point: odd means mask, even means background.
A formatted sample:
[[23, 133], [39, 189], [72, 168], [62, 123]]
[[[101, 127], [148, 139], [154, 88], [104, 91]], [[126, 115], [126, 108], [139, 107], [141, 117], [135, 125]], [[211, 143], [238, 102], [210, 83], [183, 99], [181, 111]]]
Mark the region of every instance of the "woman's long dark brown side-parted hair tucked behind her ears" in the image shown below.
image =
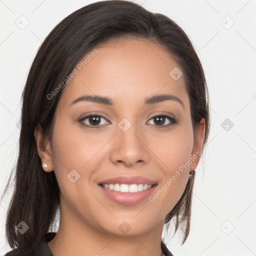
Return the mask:
[[[209, 131], [208, 91], [200, 60], [185, 32], [167, 16], [130, 1], [98, 1], [74, 11], [40, 45], [22, 92], [19, 153], [5, 224], [11, 248], [33, 252], [52, 227], [60, 203], [54, 171], [43, 171], [33, 135], [35, 127], [40, 125], [43, 134], [52, 139], [54, 112], [62, 90], [51, 99], [47, 95], [65, 80], [84, 54], [109, 39], [129, 37], [156, 43], [181, 67], [193, 132], [200, 119], [205, 119], [203, 151]], [[182, 244], [189, 233], [193, 183], [194, 174], [191, 174], [181, 198], [164, 219], [165, 224], [175, 219], [175, 232], [183, 228]], [[29, 226], [25, 234], [15, 229], [20, 221]]]

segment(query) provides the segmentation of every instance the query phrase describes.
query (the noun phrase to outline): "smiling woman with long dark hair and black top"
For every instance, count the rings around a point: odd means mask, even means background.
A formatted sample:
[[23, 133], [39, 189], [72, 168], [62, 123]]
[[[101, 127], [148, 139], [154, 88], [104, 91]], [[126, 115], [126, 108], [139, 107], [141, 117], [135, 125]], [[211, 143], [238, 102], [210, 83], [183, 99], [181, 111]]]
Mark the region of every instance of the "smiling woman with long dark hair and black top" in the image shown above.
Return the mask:
[[22, 94], [6, 255], [172, 255], [162, 229], [173, 221], [188, 236], [207, 96], [168, 17], [113, 0], [63, 19]]

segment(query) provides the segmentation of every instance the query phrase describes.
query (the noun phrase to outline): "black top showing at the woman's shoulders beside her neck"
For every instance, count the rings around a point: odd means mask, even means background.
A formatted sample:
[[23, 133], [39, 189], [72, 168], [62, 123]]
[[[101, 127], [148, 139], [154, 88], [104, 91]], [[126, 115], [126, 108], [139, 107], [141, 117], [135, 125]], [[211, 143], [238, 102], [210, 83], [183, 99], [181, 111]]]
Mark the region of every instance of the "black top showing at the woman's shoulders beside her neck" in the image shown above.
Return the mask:
[[[48, 232], [45, 234], [44, 238], [38, 245], [38, 247], [35, 249], [35, 252], [31, 255], [24, 255], [21, 253], [18, 253], [17, 249], [12, 249], [9, 252], [7, 252], [4, 256], [53, 256], [50, 248], [47, 244], [48, 241], [54, 238], [56, 235], [56, 232]], [[161, 240], [161, 250], [164, 253], [165, 256], [173, 256], [173, 254], [168, 250], [165, 243]]]

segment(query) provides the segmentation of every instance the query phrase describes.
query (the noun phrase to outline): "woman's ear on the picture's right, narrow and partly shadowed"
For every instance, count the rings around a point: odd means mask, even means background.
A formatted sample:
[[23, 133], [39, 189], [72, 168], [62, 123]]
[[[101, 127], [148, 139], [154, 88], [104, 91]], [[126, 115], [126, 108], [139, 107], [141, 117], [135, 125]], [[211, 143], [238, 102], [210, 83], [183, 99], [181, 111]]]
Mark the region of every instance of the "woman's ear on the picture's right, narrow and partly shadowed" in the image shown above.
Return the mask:
[[190, 159], [192, 160], [192, 163], [190, 165], [189, 172], [194, 170], [199, 163], [202, 142], [204, 139], [204, 132], [205, 132], [205, 120], [204, 118], [201, 118], [194, 134], [195, 135], [194, 144], [193, 144], [193, 149], [190, 155]]

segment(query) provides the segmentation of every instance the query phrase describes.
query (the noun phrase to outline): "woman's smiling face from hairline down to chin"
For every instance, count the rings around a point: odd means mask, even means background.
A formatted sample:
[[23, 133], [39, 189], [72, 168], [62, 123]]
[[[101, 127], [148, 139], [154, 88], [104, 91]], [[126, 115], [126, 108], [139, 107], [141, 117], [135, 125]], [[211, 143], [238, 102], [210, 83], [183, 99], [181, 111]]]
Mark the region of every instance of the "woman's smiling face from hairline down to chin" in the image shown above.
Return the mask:
[[[48, 163], [44, 170], [55, 172], [66, 222], [118, 235], [124, 226], [129, 235], [139, 234], [162, 225], [181, 197], [203, 136], [193, 135], [183, 75], [169, 74], [181, 68], [164, 49], [138, 39], [96, 48], [62, 89], [49, 154], [40, 156]], [[148, 180], [130, 183], [154, 185], [138, 192], [99, 185], [120, 176], [116, 183], [140, 176]]]

